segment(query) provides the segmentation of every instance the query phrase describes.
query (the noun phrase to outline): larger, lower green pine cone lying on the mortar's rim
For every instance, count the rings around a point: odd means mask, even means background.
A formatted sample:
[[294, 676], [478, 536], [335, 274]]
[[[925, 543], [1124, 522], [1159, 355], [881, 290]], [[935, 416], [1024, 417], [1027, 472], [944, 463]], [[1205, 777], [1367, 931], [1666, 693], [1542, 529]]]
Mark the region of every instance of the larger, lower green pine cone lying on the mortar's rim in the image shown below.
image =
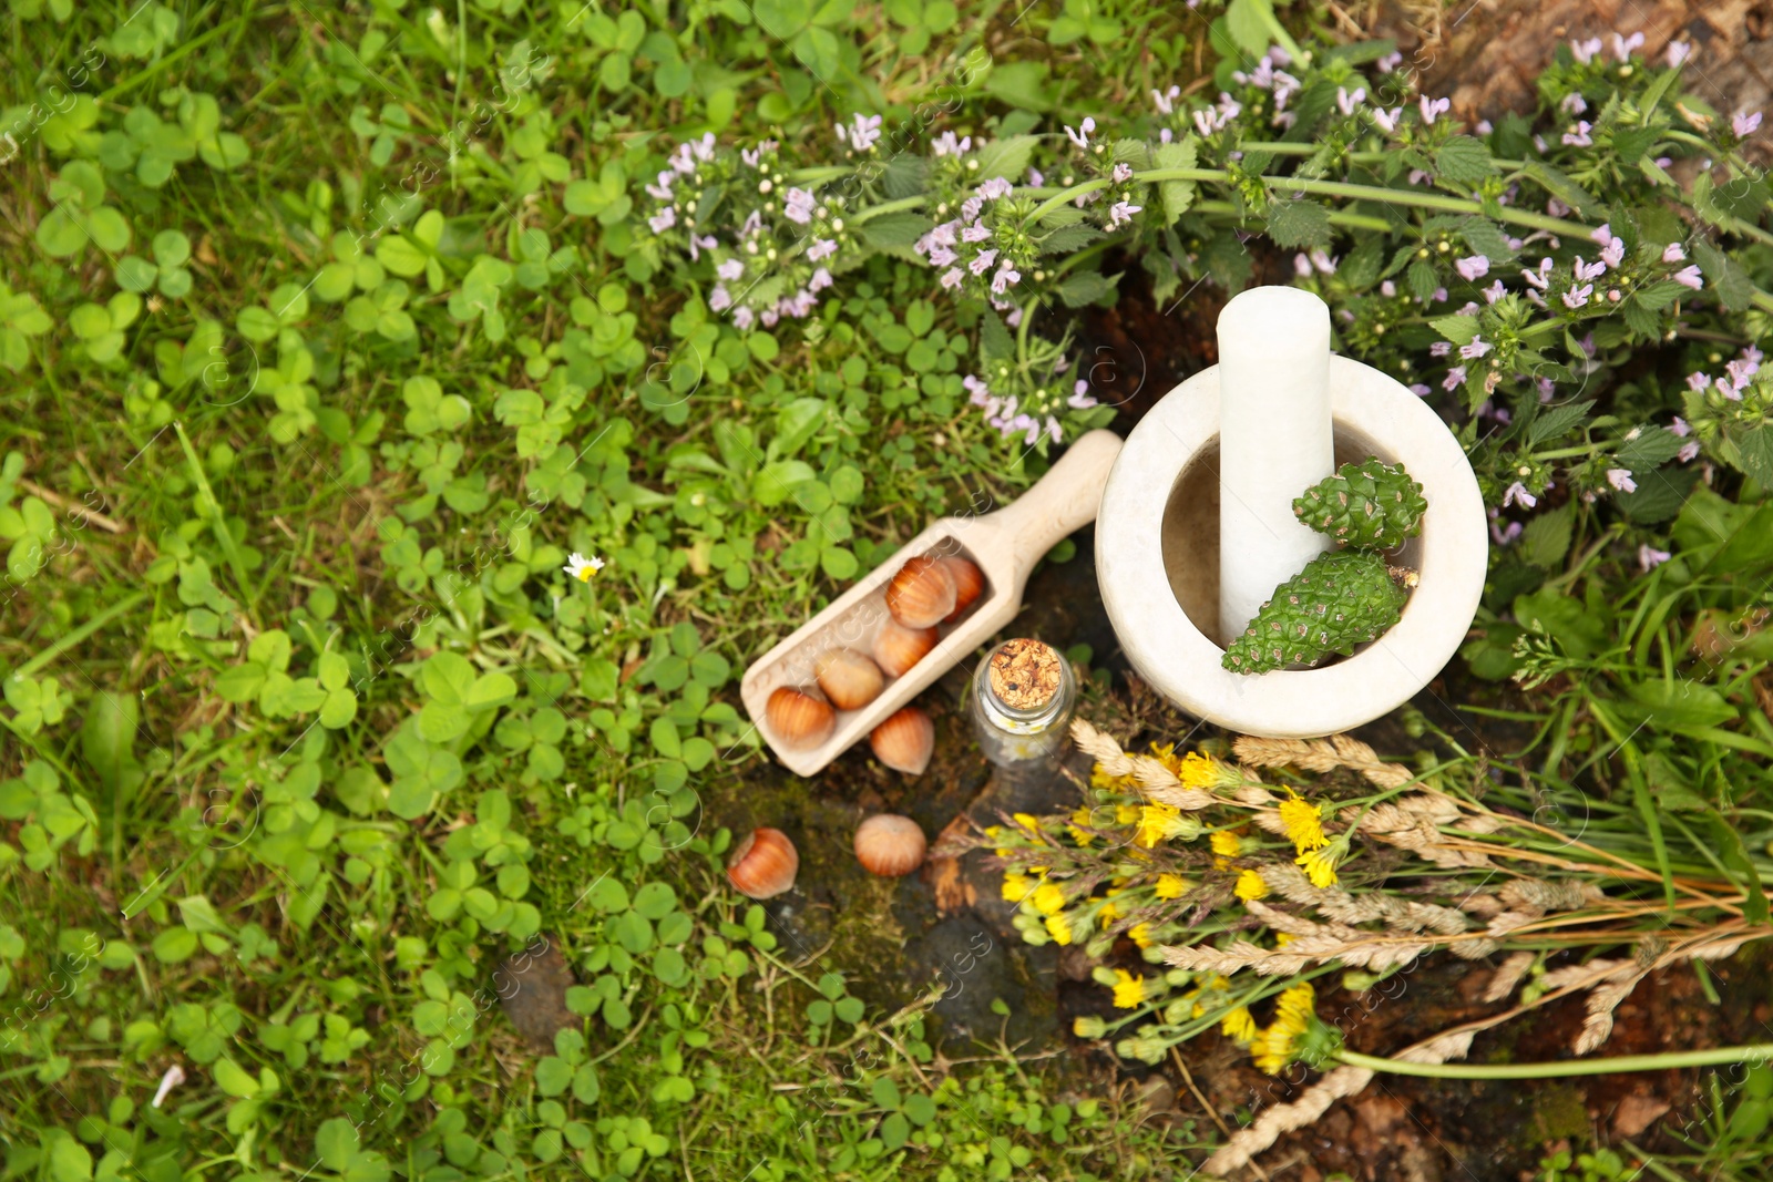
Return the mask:
[[1275, 588], [1220, 661], [1234, 673], [1268, 673], [1291, 665], [1312, 668], [1332, 652], [1383, 636], [1404, 610], [1404, 588], [1385, 560], [1362, 549], [1317, 555]]

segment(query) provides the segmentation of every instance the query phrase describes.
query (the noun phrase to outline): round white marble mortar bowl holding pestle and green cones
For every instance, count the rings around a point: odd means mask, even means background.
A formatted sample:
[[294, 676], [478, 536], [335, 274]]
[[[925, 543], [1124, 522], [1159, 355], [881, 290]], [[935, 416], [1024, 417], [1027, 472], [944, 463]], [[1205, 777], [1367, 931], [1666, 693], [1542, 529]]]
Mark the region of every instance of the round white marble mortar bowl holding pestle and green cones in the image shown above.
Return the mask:
[[1459, 650], [1484, 592], [1484, 500], [1447, 425], [1402, 383], [1344, 356], [1330, 358], [1330, 406], [1337, 464], [1402, 463], [1429, 505], [1422, 535], [1388, 558], [1417, 569], [1420, 585], [1397, 626], [1351, 657], [1273, 673], [1220, 666], [1223, 649], [1209, 634], [1218, 631], [1218, 367], [1145, 415], [1103, 491], [1096, 576], [1121, 647], [1160, 693], [1241, 734], [1328, 735], [1402, 705]]

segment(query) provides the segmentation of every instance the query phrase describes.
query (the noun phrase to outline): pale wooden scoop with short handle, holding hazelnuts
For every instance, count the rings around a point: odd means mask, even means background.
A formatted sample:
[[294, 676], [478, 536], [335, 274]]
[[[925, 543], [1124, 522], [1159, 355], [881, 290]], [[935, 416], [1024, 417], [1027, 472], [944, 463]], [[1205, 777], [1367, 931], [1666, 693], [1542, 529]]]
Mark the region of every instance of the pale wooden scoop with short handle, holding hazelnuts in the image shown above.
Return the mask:
[[[1041, 480], [1019, 498], [982, 516], [941, 517], [899, 553], [874, 567], [832, 606], [801, 624], [745, 670], [739, 696], [777, 758], [810, 776], [906, 705], [933, 680], [1016, 618], [1034, 564], [1062, 537], [1096, 519], [1108, 470], [1121, 454], [1121, 436], [1090, 431], [1078, 438]], [[1156, 539], [1152, 539], [1156, 546]], [[837, 711], [832, 737], [794, 748], [769, 725], [764, 704], [778, 686], [812, 688], [814, 661], [828, 649], [871, 652], [886, 615], [886, 581], [908, 558], [936, 553], [968, 558], [986, 578], [979, 599], [959, 620], [941, 626], [941, 642], [879, 696], [858, 711]]]

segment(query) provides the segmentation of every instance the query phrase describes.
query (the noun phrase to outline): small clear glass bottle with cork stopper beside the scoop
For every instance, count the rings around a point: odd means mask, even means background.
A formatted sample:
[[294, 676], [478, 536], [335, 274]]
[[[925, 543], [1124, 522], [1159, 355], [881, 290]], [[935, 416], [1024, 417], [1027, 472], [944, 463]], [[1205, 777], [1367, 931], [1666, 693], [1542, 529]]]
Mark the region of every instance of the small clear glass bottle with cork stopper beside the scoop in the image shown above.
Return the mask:
[[1076, 705], [1071, 661], [1039, 640], [1005, 640], [973, 673], [973, 734], [1000, 767], [1055, 757]]

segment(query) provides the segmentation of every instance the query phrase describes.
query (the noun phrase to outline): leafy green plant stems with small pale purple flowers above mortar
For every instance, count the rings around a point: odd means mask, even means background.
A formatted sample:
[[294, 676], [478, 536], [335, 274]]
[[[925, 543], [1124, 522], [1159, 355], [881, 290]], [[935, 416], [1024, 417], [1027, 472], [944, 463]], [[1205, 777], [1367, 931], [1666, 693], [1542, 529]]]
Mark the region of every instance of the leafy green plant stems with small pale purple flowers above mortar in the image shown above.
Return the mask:
[[[824, 292], [874, 255], [922, 266], [977, 324], [968, 395], [986, 425], [1044, 452], [1110, 416], [1066, 363], [1071, 312], [1112, 301], [1128, 266], [1160, 305], [1202, 280], [1238, 291], [1261, 234], [1332, 305], [1339, 349], [1456, 395], [1441, 409], [1498, 509], [1530, 507], [1511, 489], [1562, 486], [1652, 523], [1679, 509], [1667, 489], [1691, 484], [1645, 484], [1652, 470], [1757, 461], [1761, 436], [1736, 439], [1762, 427], [1759, 402], [1707, 411], [1638, 383], [1596, 415], [1589, 393], [1695, 323], [1773, 314], [1732, 252], [1773, 243], [1752, 225], [1766, 183], [1739, 151], [1752, 112], [1684, 92], [1681, 53], [1652, 64], [1642, 43], [1576, 41], [1539, 80], [1534, 117], [1468, 128], [1411, 89], [1388, 43], [1275, 39], [1222, 62], [1216, 89], [1154, 89], [1126, 121], [1037, 133], [1018, 113], [993, 138], [901, 144], [855, 115], [824, 149], [704, 136], [647, 186], [642, 248], [686, 259], [739, 330], [830, 317]], [[1695, 158], [1709, 168], [1683, 188], [1675, 159]], [[1670, 422], [1683, 408], [1691, 436]]]

